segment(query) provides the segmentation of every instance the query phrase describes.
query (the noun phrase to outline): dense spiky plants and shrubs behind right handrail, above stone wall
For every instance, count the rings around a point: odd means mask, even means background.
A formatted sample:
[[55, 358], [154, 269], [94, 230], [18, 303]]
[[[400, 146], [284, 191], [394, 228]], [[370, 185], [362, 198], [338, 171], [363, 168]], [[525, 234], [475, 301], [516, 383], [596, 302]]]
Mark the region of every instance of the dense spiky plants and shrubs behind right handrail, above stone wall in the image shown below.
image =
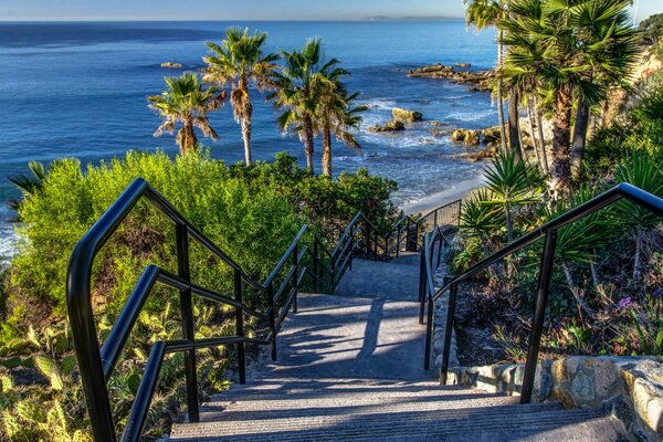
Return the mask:
[[[641, 127], [655, 117], [642, 116]], [[522, 185], [527, 206], [512, 213], [513, 229], [518, 234], [530, 231], [619, 182], [663, 196], [661, 154], [633, 149], [622, 155], [608, 162], [609, 171], [557, 200], [540, 194], [540, 186], [528, 178], [526, 167], [514, 169], [511, 181]], [[496, 185], [506, 177], [501, 170], [511, 164], [508, 157], [496, 158], [486, 173], [488, 188], [464, 201], [459, 244], [451, 256], [455, 272], [509, 242], [503, 210], [495, 202], [499, 200]], [[539, 198], [528, 198], [535, 194]], [[546, 356], [663, 356], [661, 227], [649, 211], [622, 201], [559, 231], [543, 336]], [[509, 256], [465, 286], [473, 314], [461, 326], [469, 323], [492, 329], [495, 344], [516, 361], [523, 361], [532, 327], [541, 245], [539, 241]]]

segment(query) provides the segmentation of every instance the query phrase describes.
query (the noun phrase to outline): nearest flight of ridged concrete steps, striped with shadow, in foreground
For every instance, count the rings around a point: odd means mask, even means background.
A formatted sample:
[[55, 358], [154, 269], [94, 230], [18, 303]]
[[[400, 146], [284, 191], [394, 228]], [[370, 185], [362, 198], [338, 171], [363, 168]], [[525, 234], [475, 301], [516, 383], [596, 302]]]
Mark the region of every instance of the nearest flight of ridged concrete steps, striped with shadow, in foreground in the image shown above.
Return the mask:
[[[301, 382], [302, 383], [302, 382]], [[201, 422], [178, 425], [173, 441], [621, 441], [621, 423], [600, 410], [557, 403], [516, 404], [517, 398], [428, 383], [375, 383], [281, 399], [253, 396], [254, 386], [206, 404]], [[315, 386], [315, 382], [311, 383]], [[302, 387], [302, 385], [299, 385]], [[413, 388], [415, 387], [415, 388]], [[246, 389], [246, 396], [242, 391]], [[343, 391], [346, 390], [346, 391]], [[385, 391], [386, 390], [386, 391]], [[291, 394], [293, 397], [291, 397]], [[218, 399], [221, 399], [220, 396]]]

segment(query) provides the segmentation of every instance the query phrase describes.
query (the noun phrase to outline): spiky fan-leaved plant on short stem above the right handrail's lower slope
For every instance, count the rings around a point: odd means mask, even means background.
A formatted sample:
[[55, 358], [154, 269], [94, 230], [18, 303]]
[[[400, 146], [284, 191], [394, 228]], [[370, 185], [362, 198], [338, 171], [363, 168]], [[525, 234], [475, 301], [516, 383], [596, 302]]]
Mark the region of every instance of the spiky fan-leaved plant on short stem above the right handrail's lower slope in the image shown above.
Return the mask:
[[484, 168], [486, 187], [492, 196], [482, 203], [503, 208], [508, 242], [514, 240], [514, 207], [529, 204], [537, 200], [532, 191], [530, 176], [529, 167], [525, 161], [518, 160], [513, 151], [501, 152], [490, 167]]

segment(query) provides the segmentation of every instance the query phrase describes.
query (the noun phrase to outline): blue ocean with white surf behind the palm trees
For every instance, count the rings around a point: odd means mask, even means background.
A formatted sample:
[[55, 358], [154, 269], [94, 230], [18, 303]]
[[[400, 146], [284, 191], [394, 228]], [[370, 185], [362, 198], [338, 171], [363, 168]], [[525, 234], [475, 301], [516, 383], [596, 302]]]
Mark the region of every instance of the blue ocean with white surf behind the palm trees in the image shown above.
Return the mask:
[[[369, 112], [357, 135], [360, 150], [335, 144], [335, 173], [365, 166], [391, 178], [399, 183], [393, 200], [401, 207], [480, 175], [480, 164], [455, 158], [473, 148], [429, 130], [430, 122], [475, 129], [495, 125], [497, 110], [490, 94], [406, 75], [432, 63], [492, 67], [495, 34], [476, 34], [462, 21], [0, 22], [0, 257], [11, 253], [7, 200], [18, 196], [8, 177], [25, 172], [28, 161], [77, 157], [95, 162], [128, 149], [177, 152], [172, 137], [152, 136], [159, 117], [148, 109], [146, 97], [164, 90], [164, 76], [181, 72], [161, 67], [162, 62], [200, 70], [208, 53], [204, 42], [221, 41], [230, 25], [269, 32], [269, 51], [298, 49], [307, 38], [320, 36], [326, 56], [351, 72], [349, 88], [361, 92]], [[394, 106], [422, 112], [424, 122], [390, 135], [366, 130], [390, 119]], [[242, 140], [230, 105], [210, 119], [221, 139], [201, 141], [214, 158], [241, 161]], [[273, 106], [257, 93], [252, 146], [254, 159], [270, 160], [285, 150], [304, 165], [298, 139], [281, 135]], [[318, 143], [318, 171], [320, 150]]]

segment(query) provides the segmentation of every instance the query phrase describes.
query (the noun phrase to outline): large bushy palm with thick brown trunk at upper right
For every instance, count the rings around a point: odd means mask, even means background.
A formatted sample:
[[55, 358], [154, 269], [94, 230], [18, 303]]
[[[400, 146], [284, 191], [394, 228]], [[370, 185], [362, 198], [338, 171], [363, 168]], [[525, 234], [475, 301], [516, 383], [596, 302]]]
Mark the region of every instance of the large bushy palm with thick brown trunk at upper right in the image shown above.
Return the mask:
[[[627, 76], [635, 57], [634, 33], [625, 25], [630, 0], [513, 0], [498, 22], [509, 49], [501, 75], [528, 77], [551, 91], [551, 188], [568, 188], [573, 97], [596, 103], [602, 78]], [[601, 38], [597, 35], [602, 35]]]

